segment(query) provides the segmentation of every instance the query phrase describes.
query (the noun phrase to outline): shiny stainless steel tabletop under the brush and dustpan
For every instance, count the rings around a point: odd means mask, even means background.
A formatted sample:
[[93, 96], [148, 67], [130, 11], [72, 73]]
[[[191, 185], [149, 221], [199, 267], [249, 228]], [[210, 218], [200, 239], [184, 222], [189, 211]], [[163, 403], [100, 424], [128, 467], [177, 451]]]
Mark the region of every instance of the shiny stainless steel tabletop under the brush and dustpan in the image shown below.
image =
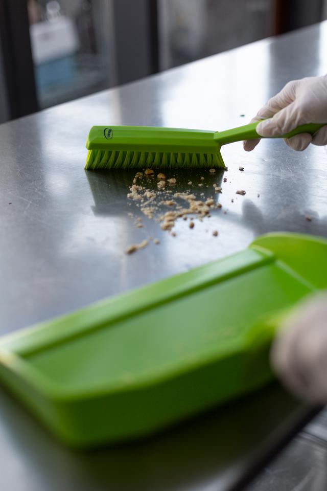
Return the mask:
[[[133, 172], [83, 170], [91, 125], [243, 124], [289, 79], [327, 72], [326, 46], [322, 23], [0, 126], [0, 333], [240, 251], [268, 231], [326, 236], [324, 147], [298, 153], [277, 140], [250, 154], [241, 144], [224, 147], [227, 213], [210, 219], [218, 238], [205, 233], [204, 221], [193, 230], [178, 223], [175, 238], [150, 219], [133, 227], [128, 212], [139, 212], [126, 197]], [[183, 189], [187, 171], [174, 174]], [[160, 245], [124, 254], [149, 235]], [[146, 441], [79, 453], [1, 390], [0, 489], [231, 489], [310, 411], [272, 385]]]

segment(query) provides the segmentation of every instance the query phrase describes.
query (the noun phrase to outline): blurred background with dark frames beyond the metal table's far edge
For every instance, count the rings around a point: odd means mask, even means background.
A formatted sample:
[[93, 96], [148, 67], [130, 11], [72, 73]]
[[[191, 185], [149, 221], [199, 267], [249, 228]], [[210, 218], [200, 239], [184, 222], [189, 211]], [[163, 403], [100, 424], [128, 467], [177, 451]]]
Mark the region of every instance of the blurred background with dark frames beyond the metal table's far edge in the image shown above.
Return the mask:
[[0, 123], [327, 17], [327, 0], [0, 0]]

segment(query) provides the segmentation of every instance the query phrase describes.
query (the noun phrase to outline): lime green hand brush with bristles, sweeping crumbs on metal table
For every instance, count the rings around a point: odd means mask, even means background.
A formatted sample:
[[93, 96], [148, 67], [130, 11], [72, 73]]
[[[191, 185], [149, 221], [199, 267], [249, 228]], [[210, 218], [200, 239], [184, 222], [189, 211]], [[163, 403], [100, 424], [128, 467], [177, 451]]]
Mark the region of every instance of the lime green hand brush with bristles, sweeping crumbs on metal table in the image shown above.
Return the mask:
[[[259, 121], [226, 131], [156, 128], [150, 126], [92, 126], [86, 141], [85, 169], [225, 167], [220, 148], [226, 143], [262, 138]], [[303, 124], [277, 138], [312, 135], [323, 124]]]

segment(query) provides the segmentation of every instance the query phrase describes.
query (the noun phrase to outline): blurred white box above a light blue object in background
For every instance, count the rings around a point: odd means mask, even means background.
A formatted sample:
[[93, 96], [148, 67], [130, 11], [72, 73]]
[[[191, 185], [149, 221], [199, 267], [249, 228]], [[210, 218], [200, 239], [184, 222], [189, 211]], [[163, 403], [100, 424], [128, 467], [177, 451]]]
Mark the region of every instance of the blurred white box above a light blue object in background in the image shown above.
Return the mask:
[[30, 26], [33, 61], [36, 65], [72, 55], [79, 49], [78, 35], [69, 17]]

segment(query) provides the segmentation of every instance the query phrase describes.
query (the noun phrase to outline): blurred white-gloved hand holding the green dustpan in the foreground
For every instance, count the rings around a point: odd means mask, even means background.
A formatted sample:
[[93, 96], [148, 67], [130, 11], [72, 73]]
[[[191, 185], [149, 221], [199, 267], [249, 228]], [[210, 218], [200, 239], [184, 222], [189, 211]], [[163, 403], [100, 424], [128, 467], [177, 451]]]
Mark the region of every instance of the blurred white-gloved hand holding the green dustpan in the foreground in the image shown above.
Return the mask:
[[276, 374], [295, 394], [327, 403], [327, 294], [303, 301], [271, 349]]

